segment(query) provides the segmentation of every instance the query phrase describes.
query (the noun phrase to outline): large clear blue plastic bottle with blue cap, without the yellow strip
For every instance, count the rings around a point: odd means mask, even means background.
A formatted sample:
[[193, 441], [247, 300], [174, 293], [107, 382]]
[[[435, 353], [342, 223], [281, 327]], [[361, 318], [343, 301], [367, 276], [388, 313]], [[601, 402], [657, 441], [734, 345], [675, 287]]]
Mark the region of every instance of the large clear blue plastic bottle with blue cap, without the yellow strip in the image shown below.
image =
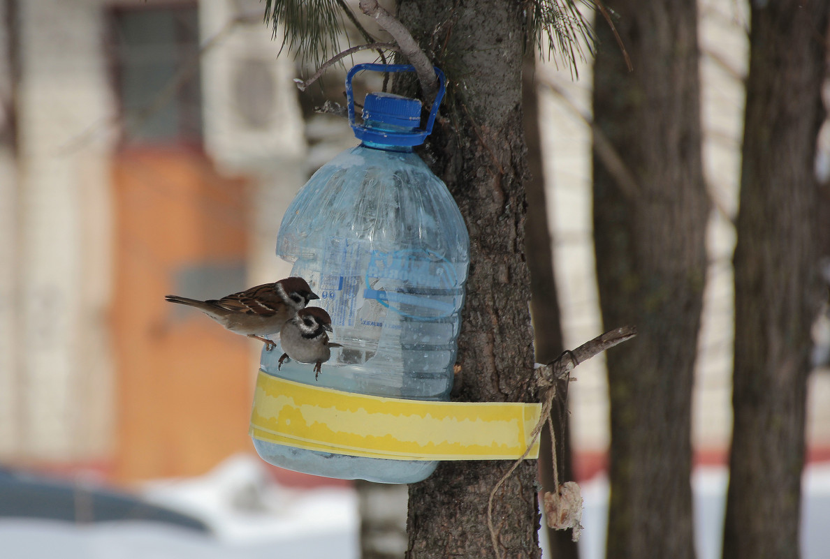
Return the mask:
[[[411, 66], [359, 65], [359, 70], [405, 71]], [[442, 79], [440, 70], [437, 74]], [[420, 400], [448, 400], [460, 311], [470, 264], [470, 239], [447, 186], [413, 145], [421, 103], [398, 95], [366, 96], [362, 125], [350, 119], [358, 147], [340, 153], [314, 174], [291, 202], [276, 254], [293, 261], [332, 317], [332, 341], [342, 344], [323, 364], [286, 362], [281, 348], [262, 352], [263, 371], [296, 382]], [[437, 462], [372, 459], [301, 450], [254, 440], [263, 459], [282, 468], [341, 479], [413, 483]]]

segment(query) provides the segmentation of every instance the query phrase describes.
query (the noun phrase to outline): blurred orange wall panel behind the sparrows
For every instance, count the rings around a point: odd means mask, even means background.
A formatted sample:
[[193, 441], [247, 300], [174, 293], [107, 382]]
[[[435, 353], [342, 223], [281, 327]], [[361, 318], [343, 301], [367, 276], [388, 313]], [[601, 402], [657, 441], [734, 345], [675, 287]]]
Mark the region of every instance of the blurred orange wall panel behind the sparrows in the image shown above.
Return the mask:
[[203, 474], [251, 449], [256, 364], [246, 338], [164, 295], [188, 266], [244, 261], [245, 183], [219, 176], [198, 153], [145, 151], [116, 156], [113, 185], [115, 478]]

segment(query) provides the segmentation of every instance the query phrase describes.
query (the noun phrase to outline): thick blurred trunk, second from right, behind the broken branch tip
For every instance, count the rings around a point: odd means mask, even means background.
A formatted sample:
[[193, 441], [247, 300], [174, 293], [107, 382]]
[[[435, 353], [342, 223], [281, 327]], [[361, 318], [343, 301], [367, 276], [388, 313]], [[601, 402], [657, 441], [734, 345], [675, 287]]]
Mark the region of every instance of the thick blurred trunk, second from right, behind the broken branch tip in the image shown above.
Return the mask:
[[[701, 165], [695, 0], [607, 2], [594, 70], [596, 124], [623, 161], [595, 156], [594, 236], [603, 322], [634, 323], [608, 352], [608, 559], [695, 556], [691, 388], [709, 213]], [[596, 140], [595, 140], [596, 143]]]

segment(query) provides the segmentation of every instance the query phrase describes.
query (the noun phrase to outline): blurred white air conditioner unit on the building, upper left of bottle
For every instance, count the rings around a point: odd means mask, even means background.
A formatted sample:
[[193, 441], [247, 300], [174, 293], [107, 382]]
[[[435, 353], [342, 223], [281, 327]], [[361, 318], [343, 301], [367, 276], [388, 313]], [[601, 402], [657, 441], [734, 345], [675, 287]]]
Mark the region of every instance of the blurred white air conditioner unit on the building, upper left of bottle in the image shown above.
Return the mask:
[[305, 153], [293, 61], [277, 56], [281, 42], [262, 10], [260, 2], [199, 4], [205, 146], [220, 166], [236, 170]]

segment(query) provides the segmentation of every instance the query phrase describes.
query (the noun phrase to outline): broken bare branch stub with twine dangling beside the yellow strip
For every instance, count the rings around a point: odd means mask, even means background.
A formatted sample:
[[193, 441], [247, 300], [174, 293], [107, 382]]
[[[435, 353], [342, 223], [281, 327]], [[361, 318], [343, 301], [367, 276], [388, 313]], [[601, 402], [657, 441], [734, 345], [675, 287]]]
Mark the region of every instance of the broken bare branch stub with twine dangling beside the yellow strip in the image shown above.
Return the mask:
[[[496, 532], [496, 527], [493, 525], [493, 500], [496, 498], [496, 492], [499, 490], [502, 484], [505, 483], [507, 478], [510, 477], [510, 474], [513, 474], [516, 468], [519, 467], [521, 461], [527, 458], [527, 455], [530, 454], [530, 448], [535, 444], [536, 439], [539, 437], [539, 434], [542, 431], [546, 422], [549, 422], [550, 419], [550, 410], [554, 406], [554, 397], [556, 396], [556, 381], [561, 379], [568, 379], [570, 376], [570, 372], [574, 370], [574, 367], [579, 365], [581, 362], [588, 361], [591, 357], [598, 355], [601, 352], [604, 352], [607, 349], [613, 348], [618, 343], [623, 343], [634, 336], [637, 335], [637, 328], [634, 326], [623, 326], [622, 328], [615, 328], [610, 330], [606, 333], [603, 333], [593, 340], [589, 342], [583, 343], [579, 348], [574, 349], [573, 351], [566, 351], [562, 353], [559, 357], [557, 357], [554, 361], [549, 362], [544, 367], [539, 367], [536, 369], [536, 383], [537, 386], [540, 386], [542, 389], [542, 397], [540, 400], [542, 401], [542, 411], [540, 413], [539, 422], [536, 424], [534, 429], [530, 432], [530, 444], [527, 446], [527, 450], [525, 450], [525, 454], [522, 454], [519, 459], [517, 459], [510, 469], [501, 476], [496, 485], [490, 492], [490, 499], [487, 501], [487, 527], [490, 529], [490, 537], [493, 544], [493, 552], [496, 552], [496, 559], [501, 559], [501, 553], [499, 552], [499, 537], [498, 533]], [[567, 357], [567, 358], [565, 358]], [[554, 439], [554, 431], [553, 426], [551, 425], [550, 430], [551, 440]], [[556, 445], [552, 445], [552, 449], [554, 452], [554, 459], [553, 463], [556, 464]], [[554, 468], [555, 471], [555, 468]], [[554, 474], [555, 475], [555, 474]], [[554, 490], [559, 490], [559, 479], [556, 479], [557, 487]], [[579, 524], [579, 522], [577, 522]], [[581, 527], [574, 526], [575, 529], [579, 529]], [[574, 534], [575, 537], [578, 537], [577, 534]]]

